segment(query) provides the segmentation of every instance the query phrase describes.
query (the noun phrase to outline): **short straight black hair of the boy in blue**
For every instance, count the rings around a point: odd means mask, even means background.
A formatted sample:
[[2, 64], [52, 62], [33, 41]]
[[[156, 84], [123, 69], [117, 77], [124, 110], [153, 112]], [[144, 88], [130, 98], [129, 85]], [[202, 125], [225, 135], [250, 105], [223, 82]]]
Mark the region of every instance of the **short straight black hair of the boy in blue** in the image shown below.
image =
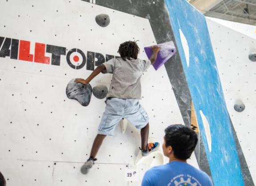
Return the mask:
[[165, 146], [171, 146], [177, 159], [189, 159], [198, 141], [197, 134], [181, 124], [170, 125], [165, 129]]

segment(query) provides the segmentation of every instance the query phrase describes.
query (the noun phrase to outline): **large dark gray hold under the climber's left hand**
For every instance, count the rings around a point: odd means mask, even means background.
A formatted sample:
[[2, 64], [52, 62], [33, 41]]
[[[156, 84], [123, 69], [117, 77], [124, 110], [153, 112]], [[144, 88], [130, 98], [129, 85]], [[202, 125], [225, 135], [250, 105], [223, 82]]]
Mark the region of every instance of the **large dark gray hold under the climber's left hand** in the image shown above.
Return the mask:
[[81, 105], [89, 105], [92, 97], [92, 86], [76, 83], [75, 79], [69, 81], [66, 94], [69, 99], [77, 100]]

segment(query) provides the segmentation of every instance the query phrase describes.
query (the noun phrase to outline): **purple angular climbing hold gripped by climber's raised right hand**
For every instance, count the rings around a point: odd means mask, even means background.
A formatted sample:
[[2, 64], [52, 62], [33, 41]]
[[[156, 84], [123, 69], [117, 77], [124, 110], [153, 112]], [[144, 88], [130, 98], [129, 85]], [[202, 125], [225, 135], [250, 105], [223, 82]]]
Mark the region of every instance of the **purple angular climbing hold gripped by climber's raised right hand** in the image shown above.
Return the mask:
[[[157, 46], [160, 46], [161, 49], [158, 52], [158, 56], [156, 58], [155, 63], [153, 64], [155, 70], [158, 70], [160, 66], [167, 62], [168, 59], [170, 59], [177, 51], [172, 41], [161, 43]], [[151, 46], [144, 47], [144, 50], [146, 52], [147, 57], [150, 58], [151, 54], [153, 53], [151, 50]]]

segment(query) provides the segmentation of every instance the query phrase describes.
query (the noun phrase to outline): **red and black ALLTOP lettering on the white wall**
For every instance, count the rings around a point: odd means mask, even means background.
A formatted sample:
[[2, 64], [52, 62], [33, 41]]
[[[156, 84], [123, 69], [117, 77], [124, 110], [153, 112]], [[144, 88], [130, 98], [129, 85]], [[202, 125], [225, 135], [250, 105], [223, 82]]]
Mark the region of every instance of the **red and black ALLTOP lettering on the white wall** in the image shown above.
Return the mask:
[[[11, 59], [60, 66], [61, 55], [66, 55], [66, 61], [69, 66], [77, 70], [83, 68], [85, 64], [86, 70], [94, 70], [94, 66], [99, 66], [115, 57], [119, 58], [108, 54], [106, 54], [105, 58], [103, 54], [91, 51], [87, 51], [86, 58], [85, 53], [78, 48], [73, 48], [66, 54], [67, 49], [65, 47], [44, 43], [35, 43], [34, 54], [30, 54], [30, 41], [4, 37], [0, 37], [0, 46], [2, 46], [0, 48], [1, 58], [8, 56]], [[45, 56], [45, 52], [52, 54], [51, 62], [50, 57]]]

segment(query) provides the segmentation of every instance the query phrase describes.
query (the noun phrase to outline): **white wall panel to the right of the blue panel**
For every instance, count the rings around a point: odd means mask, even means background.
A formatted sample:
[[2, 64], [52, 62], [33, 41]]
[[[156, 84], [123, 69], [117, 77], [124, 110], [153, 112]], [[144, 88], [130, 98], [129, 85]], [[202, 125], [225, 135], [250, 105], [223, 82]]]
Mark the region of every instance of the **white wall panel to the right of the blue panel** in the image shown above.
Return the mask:
[[[241, 30], [238, 32], [229, 28], [231, 26], [225, 27], [214, 19], [207, 19], [207, 24], [228, 112], [252, 179], [256, 182], [256, 63], [248, 58], [249, 54], [256, 53], [256, 39], [242, 34]], [[244, 27], [244, 32], [247, 27]], [[233, 28], [236, 28], [236, 23]], [[237, 101], [244, 103], [243, 112], [235, 111]]]

